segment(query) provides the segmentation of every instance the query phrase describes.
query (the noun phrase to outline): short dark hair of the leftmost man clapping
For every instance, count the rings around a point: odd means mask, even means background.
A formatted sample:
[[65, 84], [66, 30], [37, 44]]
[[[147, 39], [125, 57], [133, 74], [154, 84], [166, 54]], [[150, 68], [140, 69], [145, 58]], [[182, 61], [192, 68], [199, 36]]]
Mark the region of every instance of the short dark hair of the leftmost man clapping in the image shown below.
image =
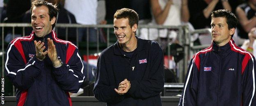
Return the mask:
[[[55, 27], [56, 21], [57, 21], [57, 14], [58, 14], [58, 9], [56, 5], [53, 5], [50, 2], [47, 2], [45, 0], [35, 0], [34, 2], [31, 3], [31, 13], [32, 13], [32, 9], [34, 7], [40, 7], [40, 6], [46, 6], [48, 8], [48, 14], [50, 16], [50, 20], [52, 20], [53, 17], [56, 18], [54, 24], [53, 24], [53, 28]], [[52, 29], [53, 29], [52, 28]]]

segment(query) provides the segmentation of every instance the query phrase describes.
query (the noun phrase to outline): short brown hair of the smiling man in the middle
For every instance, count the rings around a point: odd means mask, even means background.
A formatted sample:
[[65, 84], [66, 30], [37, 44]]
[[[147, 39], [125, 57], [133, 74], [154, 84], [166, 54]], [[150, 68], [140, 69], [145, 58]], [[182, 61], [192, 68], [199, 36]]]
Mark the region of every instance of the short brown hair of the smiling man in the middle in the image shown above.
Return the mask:
[[139, 15], [133, 9], [119, 9], [114, 14], [114, 18], [128, 18], [130, 27], [133, 27], [134, 24], [139, 25]]

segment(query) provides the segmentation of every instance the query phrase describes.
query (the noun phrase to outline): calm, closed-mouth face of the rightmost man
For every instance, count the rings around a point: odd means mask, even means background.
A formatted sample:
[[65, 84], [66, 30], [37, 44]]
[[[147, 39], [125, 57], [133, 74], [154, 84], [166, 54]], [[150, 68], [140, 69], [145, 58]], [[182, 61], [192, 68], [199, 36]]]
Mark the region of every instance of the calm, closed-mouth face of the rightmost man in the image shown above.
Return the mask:
[[224, 46], [231, 40], [231, 35], [235, 33], [234, 28], [228, 28], [225, 17], [212, 18], [211, 21], [212, 38], [219, 46]]

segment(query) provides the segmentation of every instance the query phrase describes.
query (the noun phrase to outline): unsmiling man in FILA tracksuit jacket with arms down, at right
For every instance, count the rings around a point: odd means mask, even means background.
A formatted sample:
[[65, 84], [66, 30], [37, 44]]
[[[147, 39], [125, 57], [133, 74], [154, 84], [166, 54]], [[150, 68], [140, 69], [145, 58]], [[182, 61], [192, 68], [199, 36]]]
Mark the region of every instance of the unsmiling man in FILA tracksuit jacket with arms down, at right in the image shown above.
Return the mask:
[[256, 61], [232, 39], [237, 18], [228, 10], [211, 18], [212, 44], [193, 56], [179, 106], [255, 106]]

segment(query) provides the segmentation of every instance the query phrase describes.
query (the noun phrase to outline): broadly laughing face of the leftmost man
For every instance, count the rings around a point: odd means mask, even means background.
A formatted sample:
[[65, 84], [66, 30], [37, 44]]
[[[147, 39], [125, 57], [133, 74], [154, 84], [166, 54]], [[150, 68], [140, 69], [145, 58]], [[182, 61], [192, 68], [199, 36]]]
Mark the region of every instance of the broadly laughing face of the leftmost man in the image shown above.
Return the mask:
[[55, 17], [50, 20], [46, 6], [34, 7], [31, 14], [31, 25], [37, 37], [44, 37], [52, 31]]

